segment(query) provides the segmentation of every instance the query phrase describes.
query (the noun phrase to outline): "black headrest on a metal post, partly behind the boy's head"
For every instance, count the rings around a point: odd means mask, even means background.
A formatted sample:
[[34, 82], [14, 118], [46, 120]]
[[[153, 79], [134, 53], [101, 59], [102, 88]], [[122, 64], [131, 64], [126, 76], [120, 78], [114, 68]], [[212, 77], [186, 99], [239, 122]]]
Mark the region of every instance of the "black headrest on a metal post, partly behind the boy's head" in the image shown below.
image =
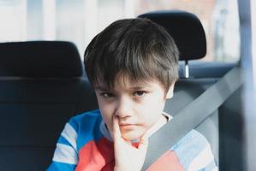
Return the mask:
[[139, 15], [163, 26], [180, 50], [180, 60], [203, 58], [206, 54], [205, 31], [197, 16], [180, 10], [154, 11]]

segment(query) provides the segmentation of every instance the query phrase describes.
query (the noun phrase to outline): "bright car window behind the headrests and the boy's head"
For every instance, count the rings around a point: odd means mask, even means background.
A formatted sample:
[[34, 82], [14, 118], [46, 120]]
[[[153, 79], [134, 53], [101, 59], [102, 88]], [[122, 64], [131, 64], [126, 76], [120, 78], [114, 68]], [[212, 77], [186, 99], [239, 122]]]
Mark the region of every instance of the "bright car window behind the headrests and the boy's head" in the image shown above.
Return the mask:
[[167, 9], [182, 9], [199, 17], [207, 40], [207, 54], [202, 60], [239, 59], [235, 0], [0, 0], [0, 41], [68, 40], [78, 46], [82, 56], [91, 39], [112, 21]]

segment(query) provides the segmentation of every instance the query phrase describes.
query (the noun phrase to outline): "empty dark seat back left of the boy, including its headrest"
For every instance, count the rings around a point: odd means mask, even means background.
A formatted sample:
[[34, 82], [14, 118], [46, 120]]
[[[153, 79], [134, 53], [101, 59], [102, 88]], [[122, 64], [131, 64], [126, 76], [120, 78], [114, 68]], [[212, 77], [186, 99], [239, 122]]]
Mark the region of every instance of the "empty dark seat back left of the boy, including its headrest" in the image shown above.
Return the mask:
[[0, 170], [45, 170], [68, 119], [97, 109], [74, 44], [0, 44]]

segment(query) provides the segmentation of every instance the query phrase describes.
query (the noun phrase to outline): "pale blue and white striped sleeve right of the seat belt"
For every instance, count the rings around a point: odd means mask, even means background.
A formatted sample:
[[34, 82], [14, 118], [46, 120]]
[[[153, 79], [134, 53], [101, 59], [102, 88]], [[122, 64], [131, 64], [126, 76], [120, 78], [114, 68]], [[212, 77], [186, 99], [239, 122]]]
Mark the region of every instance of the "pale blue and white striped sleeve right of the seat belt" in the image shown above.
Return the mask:
[[217, 169], [211, 152], [211, 144], [196, 130], [190, 131], [171, 150], [176, 152], [179, 162], [186, 170]]

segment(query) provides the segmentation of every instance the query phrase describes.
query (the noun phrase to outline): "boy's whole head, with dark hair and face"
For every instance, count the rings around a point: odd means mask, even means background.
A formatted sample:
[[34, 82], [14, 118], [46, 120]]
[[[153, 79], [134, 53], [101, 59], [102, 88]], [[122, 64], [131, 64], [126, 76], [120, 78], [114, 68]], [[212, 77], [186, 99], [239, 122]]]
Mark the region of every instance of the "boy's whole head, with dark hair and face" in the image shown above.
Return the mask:
[[178, 56], [170, 34], [146, 19], [115, 21], [92, 39], [85, 52], [86, 74], [110, 133], [115, 115], [129, 140], [160, 121], [178, 79]]

